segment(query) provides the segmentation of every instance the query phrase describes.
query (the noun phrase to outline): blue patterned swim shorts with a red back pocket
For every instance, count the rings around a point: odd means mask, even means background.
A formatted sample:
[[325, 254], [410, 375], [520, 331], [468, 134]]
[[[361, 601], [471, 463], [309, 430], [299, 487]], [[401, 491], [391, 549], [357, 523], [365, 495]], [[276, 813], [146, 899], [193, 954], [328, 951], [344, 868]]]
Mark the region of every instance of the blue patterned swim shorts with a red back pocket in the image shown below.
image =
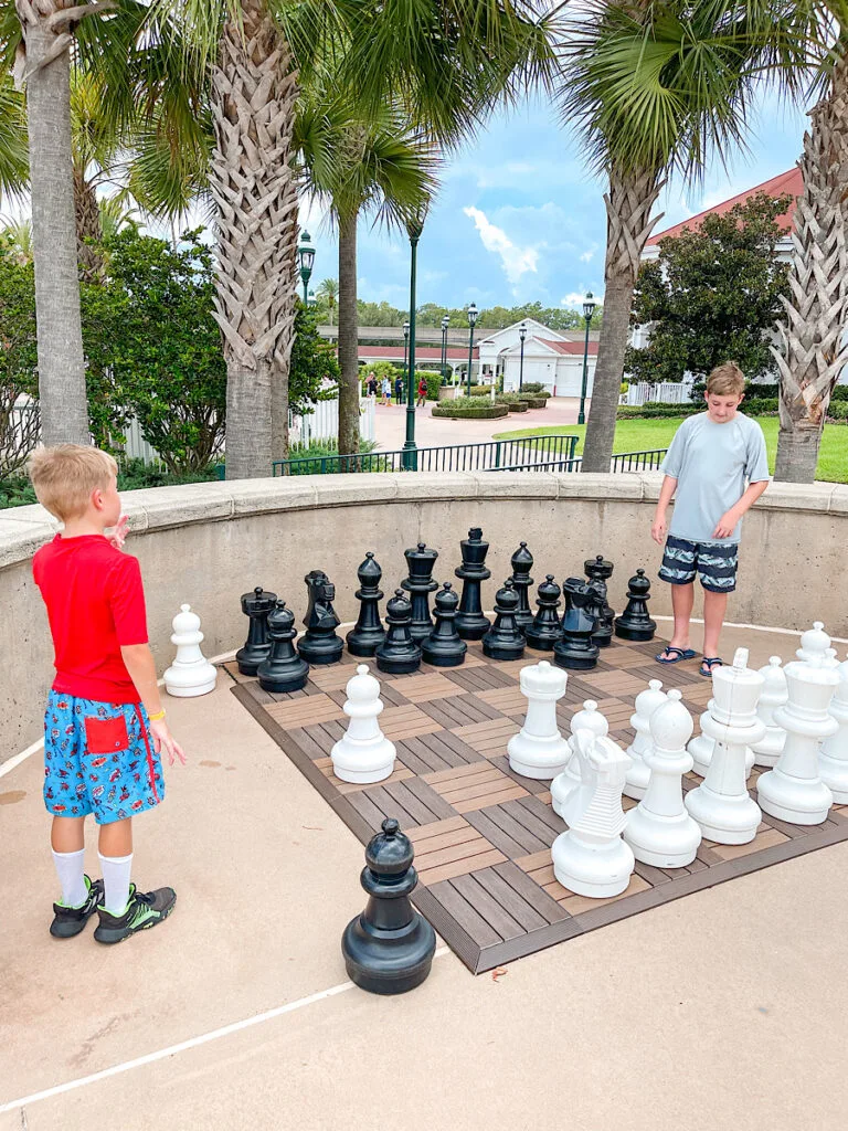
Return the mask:
[[44, 804], [54, 817], [111, 824], [165, 796], [162, 762], [141, 703], [102, 703], [51, 691], [44, 715]]

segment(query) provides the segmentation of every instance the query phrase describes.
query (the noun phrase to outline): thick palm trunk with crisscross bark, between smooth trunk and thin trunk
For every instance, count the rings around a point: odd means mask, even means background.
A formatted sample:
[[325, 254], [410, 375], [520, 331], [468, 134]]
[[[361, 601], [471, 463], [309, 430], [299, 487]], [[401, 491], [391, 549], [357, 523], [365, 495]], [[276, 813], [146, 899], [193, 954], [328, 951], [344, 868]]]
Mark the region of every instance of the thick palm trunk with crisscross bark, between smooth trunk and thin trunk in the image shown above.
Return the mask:
[[[294, 337], [296, 101], [297, 76], [285, 37], [262, 0], [244, 0], [241, 25], [232, 19], [224, 25], [213, 75], [215, 318], [227, 365], [231, 480], [271, 474], [272, 374], [287, 365]], [[277, 405], [278, 420], [282, 407]]]

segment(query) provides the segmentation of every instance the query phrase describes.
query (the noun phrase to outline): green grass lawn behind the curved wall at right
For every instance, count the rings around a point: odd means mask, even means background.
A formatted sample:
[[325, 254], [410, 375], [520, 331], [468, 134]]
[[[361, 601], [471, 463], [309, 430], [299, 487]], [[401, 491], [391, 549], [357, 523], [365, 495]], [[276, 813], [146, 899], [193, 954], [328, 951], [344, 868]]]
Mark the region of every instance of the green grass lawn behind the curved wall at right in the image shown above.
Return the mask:
[[[777, 434], [779, 421], [777, 416], [758, 418], [765, 433], [765, 447], [769, 452], [769, 468], [775, 470], [775, 454], [777, 452]], [[683, 418], [652, 421], [618, 421], [615, 426], [614, 452], [650, 451], [652, 448], [667, 448], [672, 437], [677, 431]], [[568, 424], [557, 428], [527, 428], [517, 432], [499, 432], [494, 440], [520, 440], [529, 435], [579, 435], [577, 454], [583, 450], [585, 424]], [[815, 477], [829, 483], [848, 483], [848, 426], [845, 424], [825, 424], [822, 446], [819, 450], [819, 467]]]

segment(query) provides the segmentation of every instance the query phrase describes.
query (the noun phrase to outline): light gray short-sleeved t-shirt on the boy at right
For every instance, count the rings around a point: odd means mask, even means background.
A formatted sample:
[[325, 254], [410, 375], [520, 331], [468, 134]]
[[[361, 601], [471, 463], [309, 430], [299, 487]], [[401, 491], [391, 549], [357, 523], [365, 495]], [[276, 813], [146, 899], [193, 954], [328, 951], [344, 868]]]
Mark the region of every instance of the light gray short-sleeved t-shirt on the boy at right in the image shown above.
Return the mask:
[[724, 424], [698, 413], [677, 429], [661, 470], [677, 480], [669, 534], [689, 542], [738, 542], [741, 523], [729, 538], [712, 532], [745, 493], [746, 480], [770, 478], [765, 437], [744, 413]]

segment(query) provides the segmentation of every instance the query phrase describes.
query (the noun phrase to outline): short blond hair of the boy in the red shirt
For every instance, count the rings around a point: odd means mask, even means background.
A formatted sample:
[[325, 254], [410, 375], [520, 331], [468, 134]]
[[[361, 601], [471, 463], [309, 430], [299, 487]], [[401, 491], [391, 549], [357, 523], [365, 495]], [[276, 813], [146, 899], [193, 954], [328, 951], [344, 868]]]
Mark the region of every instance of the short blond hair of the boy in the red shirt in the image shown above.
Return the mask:
[[62, 523], [85, 513], [92, 491], [105, 491], [118, 464], [99, 448], [59, 443], [37, 448], [26, 466], [42, 507]]

